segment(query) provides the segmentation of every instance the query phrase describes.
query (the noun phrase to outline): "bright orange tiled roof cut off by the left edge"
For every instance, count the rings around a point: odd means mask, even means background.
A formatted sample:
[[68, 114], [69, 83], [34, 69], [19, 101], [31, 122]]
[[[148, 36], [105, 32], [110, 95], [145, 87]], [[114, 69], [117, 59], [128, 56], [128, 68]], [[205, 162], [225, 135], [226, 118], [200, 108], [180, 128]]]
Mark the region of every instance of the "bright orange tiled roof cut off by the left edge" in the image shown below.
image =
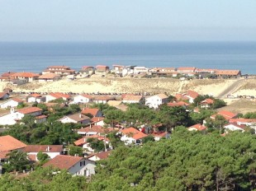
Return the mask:
[[13, 151], [24, 147], [26, 144], [10, 135], [0, 137], [0, 151]]

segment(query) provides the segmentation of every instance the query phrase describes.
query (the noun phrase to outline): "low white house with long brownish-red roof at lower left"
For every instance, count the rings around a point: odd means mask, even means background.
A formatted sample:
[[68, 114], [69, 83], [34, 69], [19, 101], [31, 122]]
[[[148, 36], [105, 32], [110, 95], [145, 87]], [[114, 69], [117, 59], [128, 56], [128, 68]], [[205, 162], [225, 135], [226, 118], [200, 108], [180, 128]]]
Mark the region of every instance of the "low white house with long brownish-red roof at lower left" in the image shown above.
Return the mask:
[[28, 145], [24, 148], [24, 152], [27, 153], [28, 156], [34, 158], [35, 161], [38, 161], [37, 154], [38, 152], [42, 152], [47, 154], [50, 159], [55, 158], [55, 156], [63, 154], [63, 146], [62, 145]]

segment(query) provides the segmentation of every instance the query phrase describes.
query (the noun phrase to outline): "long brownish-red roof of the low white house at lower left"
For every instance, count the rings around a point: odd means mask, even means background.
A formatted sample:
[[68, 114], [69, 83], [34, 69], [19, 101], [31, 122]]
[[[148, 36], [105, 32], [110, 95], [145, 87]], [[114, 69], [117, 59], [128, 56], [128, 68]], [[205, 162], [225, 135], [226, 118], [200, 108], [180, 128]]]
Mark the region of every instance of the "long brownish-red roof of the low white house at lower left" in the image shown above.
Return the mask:
[[24, 150], [25, 152], [62, 152], [62, 145], [27, 145]]

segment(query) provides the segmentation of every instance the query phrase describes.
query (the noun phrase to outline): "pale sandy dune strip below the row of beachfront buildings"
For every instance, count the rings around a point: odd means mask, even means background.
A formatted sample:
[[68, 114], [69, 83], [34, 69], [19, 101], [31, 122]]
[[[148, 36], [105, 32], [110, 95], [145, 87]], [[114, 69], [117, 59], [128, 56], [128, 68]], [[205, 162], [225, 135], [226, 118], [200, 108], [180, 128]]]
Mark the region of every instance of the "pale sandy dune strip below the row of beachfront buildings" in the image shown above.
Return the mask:
[[[12, 88], [13, 91], [25, 92], [73, 92], [73, 93], [136, 93], [151, 94], [166, 92], [168, 95], [194, 90], [202, 95], [218, 96], [230, 86], [238, 83], [230, 90], [232, 95], [256, 96], [256, 79], [203, 79], [180, 81], [173, 78], [115, 78], [92, 77], [76, 80], [63, 79], [57, 82], [30, 82], [21, 86], [13, 86], [0, 82], [0, 89]], [[234, 91], [234, 92], [233, 92]]]

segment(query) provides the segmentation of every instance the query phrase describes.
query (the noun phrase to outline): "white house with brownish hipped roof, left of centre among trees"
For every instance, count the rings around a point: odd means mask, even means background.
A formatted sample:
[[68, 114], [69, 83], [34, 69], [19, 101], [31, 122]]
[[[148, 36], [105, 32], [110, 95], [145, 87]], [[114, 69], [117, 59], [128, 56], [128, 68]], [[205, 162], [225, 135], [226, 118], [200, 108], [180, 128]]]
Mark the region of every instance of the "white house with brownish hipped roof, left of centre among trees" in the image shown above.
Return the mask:
[[59, 119], [61, 123], [80, 123], [80, 124], [89, 124], [90, 118], [84, 114], [69, 114], [64, 116], [62, 119]]

